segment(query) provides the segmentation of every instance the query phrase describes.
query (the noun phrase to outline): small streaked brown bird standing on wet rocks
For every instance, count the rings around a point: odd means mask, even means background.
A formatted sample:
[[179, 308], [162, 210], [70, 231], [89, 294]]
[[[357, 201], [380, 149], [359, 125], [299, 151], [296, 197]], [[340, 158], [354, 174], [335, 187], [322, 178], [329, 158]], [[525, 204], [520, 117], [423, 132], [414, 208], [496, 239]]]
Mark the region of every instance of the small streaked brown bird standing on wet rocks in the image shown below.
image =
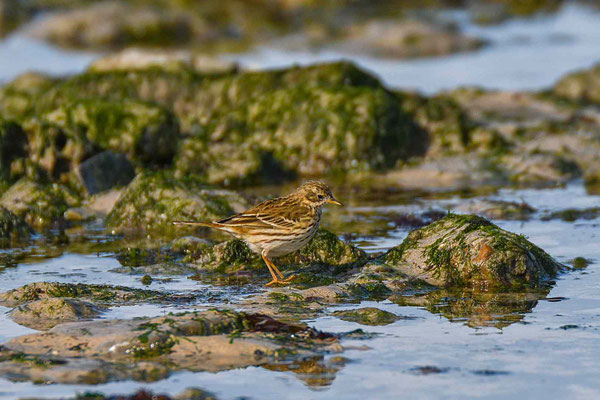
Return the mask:
[[306, 245], [317, 232], [321, 208], [327, 203], [342, 205], [327, 185], [308, 181], [285, 197], [267, 200], [219, 221], [176, 221], [174, 224], [207, 226], [245, 241], [252, 251], [262, 256], [269, 268], [273, 280], [266, 286], [287, 284], [294, 275], [285, 279], [271, 258], [289, 254]]

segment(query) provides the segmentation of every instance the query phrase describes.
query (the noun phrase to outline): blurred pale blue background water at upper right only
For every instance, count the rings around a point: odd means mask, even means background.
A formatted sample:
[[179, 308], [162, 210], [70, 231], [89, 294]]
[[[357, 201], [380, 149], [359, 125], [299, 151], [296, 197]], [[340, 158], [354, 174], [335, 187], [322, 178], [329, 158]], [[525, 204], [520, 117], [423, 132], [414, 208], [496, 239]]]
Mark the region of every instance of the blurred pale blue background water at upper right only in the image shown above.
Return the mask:
[[490, 45], [479, 51], [418, 60], [384, 60], [335, 50], [291, 51], [263, 47], [238, 59], [254, 68], [284, 67], [352, 59], [375, 72], [388, 85], [424, 93], [457, 86], [505, 90], [539, 90], [565, 73], [588, 68], [600, 54], [600, 12], [570, 4], [550, 16], [511, 20], [497, 26], [471, 24], [456, 13], [462, 30], [482, 37]]

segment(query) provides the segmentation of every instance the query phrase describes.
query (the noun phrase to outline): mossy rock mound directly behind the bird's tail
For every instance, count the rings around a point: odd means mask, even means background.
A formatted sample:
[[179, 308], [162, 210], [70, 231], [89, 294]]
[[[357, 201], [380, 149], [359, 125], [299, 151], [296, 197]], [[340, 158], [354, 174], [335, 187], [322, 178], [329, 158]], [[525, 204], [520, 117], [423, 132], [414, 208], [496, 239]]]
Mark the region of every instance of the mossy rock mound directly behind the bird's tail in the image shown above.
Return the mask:
[[138, 175], [107, 217], [107, 226], [120, 232], [174, 233], [174, 221], [212, 221], [249, 206], [239, 194], [219, 190], [168, 173]]

